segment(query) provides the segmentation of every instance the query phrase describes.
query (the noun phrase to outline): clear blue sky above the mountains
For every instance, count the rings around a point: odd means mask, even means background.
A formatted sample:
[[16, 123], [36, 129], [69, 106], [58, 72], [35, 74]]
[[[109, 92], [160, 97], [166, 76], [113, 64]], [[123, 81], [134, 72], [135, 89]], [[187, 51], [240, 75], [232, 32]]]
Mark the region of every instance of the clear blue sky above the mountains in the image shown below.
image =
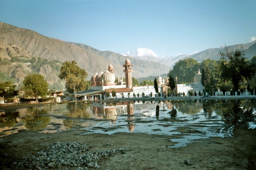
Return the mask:
[[194, 54], [256, 40], [255, 0], [0, 0], [0, 22], [119, 54]]

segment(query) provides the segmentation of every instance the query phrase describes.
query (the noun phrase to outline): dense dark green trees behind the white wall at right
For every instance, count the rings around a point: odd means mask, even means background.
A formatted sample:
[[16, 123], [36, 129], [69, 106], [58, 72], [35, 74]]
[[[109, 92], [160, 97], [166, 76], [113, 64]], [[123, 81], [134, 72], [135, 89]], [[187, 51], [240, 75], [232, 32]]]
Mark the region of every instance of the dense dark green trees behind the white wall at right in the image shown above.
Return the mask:
[[201, 70], [201, 83], [205, 92], [218, 91], [251, 91], [256, 89], [256, 56], [247, 60], [242, 49], [231, 49], [225, 46], [220, 52], [218, 61], [212, 59], [197, 60], [188, 58], [179, 60], [168, 73], [169, 86], [175, 88], [174, 78], [178, 84], [190, 84], [197, 70]]

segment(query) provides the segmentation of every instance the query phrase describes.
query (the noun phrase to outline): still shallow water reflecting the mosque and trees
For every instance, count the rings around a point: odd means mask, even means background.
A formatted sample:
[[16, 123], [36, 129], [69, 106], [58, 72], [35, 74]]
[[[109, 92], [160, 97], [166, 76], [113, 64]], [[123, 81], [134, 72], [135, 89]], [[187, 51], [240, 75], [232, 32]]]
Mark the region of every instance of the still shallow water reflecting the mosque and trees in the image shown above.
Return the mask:
[[5, 110], [0, 108], [0, 137], [21, 130], [58, 133], [148, 133], [172, 136], [173, 147], [197, 139], [232, 137], [233, 128], [256, 128], [256, 100], [195, 100], [58, 103]]

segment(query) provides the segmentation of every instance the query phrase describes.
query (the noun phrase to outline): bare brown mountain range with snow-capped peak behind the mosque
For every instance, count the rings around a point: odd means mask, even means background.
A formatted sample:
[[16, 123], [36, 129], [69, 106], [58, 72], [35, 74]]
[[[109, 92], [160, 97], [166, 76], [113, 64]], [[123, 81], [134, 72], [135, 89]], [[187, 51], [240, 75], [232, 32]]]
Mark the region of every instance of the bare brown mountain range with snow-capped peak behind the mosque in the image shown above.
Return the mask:
[[[236, 44], [232, 48], [243, 47], [246, 57], [250, 59], [256, 55], [256, 41], [248, 44]], [[204, 59], [219, 59], [219, 53], [222, 48], [206, 49], [203, 52], [198, 52], [193, 55], [179, 55], [173, 56], [158, 56], [150, 49], [139, 48], [136, 51], [130, 52], [128, 58], [133, 64], [133, 76], [135, 78], [158, 76], [160, 74], [167, 74], [173, 65], [180, 59], [193, 58], [202, 62]], [[107, 66], [112, 64], [115, 68], [115, 76], [122, 76], [123, 63], [127, 56], [110, 51], [100, 51], [85, 44], [76, 42], [65, 42], [60, 39], [54, 39], [43, 36], [42, 34], [33, 30], [15, 27], [3, 22], [0, 22], [0, 59], [10, 60], [10, 56], [26, 56], [27, 58], [35, 57], [47, 59], [48, 61], [58, 60], [60, 62], [75, 60], [78, 66], [85, 69], [88, 73], [88, 79], [95, 74], [96, 69], [106, 71]], [[26, 74], [30, 74], [33, 70], [28, 63], [2, 62], [0, 73], [5, 76], [10, 76], [12, 79], [22, 81]], [[26, 65], [27, 64], [27, 65]], [[19, 68], [19, 69], [17, 69]], [[38, 68], [41, 74], [44, 74], [50, 84], [58, 83], [58, 72], [52, 73], [53, 66], [42, 65]], [[19, 71], [17, 71], [19, 70]], [[23, 73], [23, 74], [22, 74]], [[47, 78], [48, 76], [48, 78]]]

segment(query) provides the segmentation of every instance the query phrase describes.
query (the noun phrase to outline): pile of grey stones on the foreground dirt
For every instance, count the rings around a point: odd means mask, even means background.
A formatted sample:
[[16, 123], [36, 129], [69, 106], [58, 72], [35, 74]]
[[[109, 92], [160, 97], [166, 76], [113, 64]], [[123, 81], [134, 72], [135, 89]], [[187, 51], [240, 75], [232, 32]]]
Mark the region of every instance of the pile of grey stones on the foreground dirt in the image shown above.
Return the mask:
[[[90, 168], [100, 168], [98, 161], [101, 157], [113, 155], [115, 153], [125, 153], [127, 148], [108, 149], [105, 151], [95, 150], [89, 152], [91, 146], [81, 142], [56, 142], [48, 145], [35, 155], [23, 157], [19, 162], [13, 162], [13, 168], [19, 169], [70, 169], [77, 167], [77, 170], [87, 170]], [[72, 168], [72, 169], [73, 169]]]

